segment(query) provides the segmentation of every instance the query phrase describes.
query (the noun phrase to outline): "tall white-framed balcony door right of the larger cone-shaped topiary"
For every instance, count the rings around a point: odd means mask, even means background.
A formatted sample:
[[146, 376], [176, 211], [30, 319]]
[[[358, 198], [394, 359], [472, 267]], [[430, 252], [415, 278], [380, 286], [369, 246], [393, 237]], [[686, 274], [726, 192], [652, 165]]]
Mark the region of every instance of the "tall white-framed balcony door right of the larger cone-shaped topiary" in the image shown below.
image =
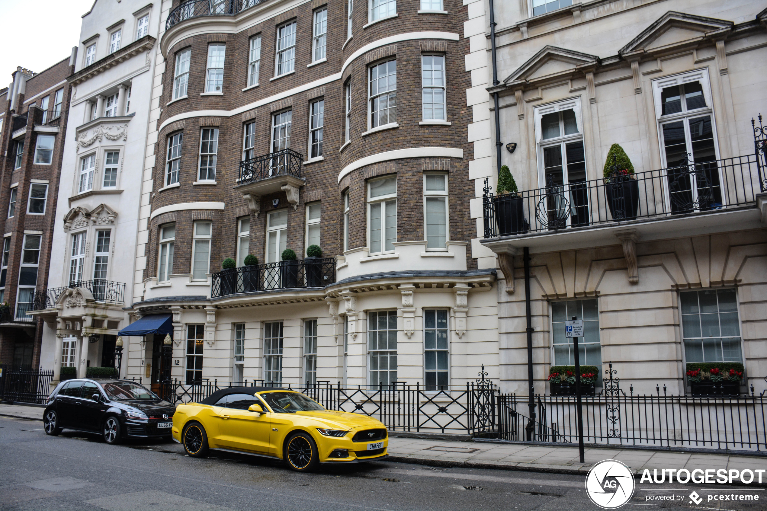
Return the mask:
[[673, 213], [722, 206], [716, 126], [706, 70], [653, 82]]

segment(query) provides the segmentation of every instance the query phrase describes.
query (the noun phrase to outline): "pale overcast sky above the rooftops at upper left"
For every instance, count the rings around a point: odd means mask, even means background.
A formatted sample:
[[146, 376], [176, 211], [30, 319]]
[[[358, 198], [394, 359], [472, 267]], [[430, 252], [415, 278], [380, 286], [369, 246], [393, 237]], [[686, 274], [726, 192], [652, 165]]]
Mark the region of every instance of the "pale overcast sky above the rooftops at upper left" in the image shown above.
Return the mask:
[[94, 0], [0, 0], [0, 88], [17, 66], [39, 73], [70, 56]]

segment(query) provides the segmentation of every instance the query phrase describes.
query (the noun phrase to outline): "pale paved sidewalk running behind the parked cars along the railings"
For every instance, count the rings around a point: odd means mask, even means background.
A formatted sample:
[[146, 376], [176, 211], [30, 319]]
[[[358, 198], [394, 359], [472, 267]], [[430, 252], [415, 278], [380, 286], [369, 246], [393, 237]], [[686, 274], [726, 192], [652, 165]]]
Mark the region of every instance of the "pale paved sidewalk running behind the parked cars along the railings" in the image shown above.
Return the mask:
[[[0, 415], [41, 421], [43, 408], [0, 404]], [[734, 454], [674, 453], [667, 450], [587, 448], [585, 464], [578, 461], [578, 446], [495, 444], [424, 438], [389, 438], [389, 459], [438, 467], [496, 468], [551, 473], [585, 474], [601, 460], [620, 460], [635, 473], [645, 468], [767, 469], [767, 457]], [[765, 480], [767, 484], [767, 480]]]

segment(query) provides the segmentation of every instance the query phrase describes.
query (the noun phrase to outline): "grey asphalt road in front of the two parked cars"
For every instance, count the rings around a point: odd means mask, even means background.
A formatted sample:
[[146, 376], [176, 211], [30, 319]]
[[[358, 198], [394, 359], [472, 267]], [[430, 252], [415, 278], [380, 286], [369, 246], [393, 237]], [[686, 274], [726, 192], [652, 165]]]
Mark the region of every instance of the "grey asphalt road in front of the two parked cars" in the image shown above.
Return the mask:
[[[0, 417], [0, 473], [0, 509], [14, 510], [598, 509], [579, 476], [386, 461], [295, 473], [246, 455], [186, 457], [175, 442], [112, 446], [97, 435], [73, 431], [50, 437], [41, 421], [5, 417]], [[637, 492], [621, 509], [661, 507], [666, 506], [647, 503]]]

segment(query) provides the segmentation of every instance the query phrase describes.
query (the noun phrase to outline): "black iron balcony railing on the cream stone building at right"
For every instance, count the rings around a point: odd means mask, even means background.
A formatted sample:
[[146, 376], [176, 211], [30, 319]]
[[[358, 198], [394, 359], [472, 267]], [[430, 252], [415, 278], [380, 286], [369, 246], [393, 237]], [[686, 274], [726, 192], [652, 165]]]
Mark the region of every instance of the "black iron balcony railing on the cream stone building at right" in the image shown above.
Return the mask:
[[485, 237], [499, 237], [637, 218], [706, 214], [755, 204], [765, 190], [757, 155], [710, 162], [686, 161], [667, 169], [562, 183], [548, 175], [545, 188], [482, 196]]

